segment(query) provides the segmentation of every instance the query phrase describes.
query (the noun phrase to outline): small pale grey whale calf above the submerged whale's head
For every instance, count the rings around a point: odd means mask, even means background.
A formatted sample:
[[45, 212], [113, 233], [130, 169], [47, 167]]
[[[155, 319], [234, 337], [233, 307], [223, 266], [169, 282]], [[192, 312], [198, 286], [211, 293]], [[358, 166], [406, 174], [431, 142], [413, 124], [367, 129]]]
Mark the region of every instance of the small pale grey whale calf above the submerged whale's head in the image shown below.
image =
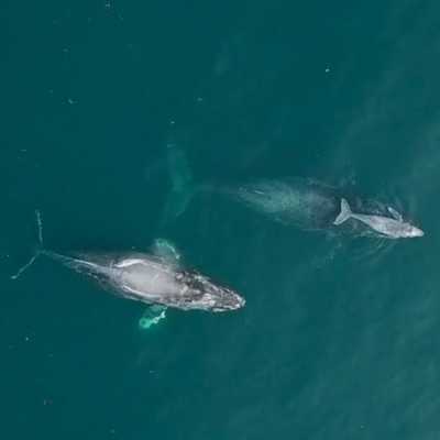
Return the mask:
[[385, 216], [374, 216], [355, 213], [351, 210], [349, 202], [341, 199], [341, 212], [336, 218], [333, 224], [339, 226], [349, 219], [355, 219], [366, 224], [369, 228], [389, 239], [414, 238], [425, 235], [424, 231], [415, 226], [407, 223], [400, 213], [388, 207], [388, 212], [393, 218]]

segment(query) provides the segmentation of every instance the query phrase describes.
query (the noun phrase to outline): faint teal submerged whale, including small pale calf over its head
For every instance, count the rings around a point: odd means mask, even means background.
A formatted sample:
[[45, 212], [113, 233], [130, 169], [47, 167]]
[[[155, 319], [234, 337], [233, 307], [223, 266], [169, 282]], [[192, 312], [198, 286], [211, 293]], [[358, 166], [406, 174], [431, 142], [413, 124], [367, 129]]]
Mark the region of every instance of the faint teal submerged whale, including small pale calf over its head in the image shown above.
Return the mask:
[[[195, 183], [189, 162], [176, 144], [166, 151], [170, 184], [163, 223], [175, 221], [197, 195], [219, 195], [246, 206], [273, 221], [307, 231], [331, 231], [354, 237], [403, 239], [422, 237], [424, 231], [404, 221], [397, 209], [377, 200], [350, 199], [344, 188], [305, 177], [255, 179], [234, 185]], [[350, 194], [352, 188], [350, 188]]]

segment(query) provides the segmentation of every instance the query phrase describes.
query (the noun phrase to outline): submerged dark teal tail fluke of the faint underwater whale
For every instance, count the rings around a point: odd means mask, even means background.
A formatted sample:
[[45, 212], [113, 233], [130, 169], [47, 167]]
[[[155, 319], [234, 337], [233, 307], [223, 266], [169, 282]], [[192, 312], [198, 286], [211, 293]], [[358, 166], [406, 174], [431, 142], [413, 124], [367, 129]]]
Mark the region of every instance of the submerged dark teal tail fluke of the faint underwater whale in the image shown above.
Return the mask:
[[188, 160], [176, 144], [168, 145], [167, 163], [170, 193], [162, 215], [162, 226], [184, 213], [196, 191]]

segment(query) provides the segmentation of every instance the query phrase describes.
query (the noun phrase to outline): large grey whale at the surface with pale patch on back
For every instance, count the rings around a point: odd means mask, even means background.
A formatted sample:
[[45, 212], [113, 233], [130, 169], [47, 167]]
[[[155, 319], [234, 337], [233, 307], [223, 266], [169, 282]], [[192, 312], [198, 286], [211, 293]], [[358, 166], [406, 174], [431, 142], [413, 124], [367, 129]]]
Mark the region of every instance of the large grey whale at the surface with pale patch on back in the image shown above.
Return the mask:
[[[38, 237], [42, 242], [41, 219]], [[229, 311], [244, 306], [245, 300], [234, 290], [215, 283], [197, 271], [180, 266], [178, 257], [156, 241], [152, 254], [69, 253], [61, 254], [40, 249], [31, 261], [12, 278], [18, 278], [38, 255], [45, 255], [63, 265], [86, 274], [105, 289], [148, 305], [174, 307], [182, 310]]]

